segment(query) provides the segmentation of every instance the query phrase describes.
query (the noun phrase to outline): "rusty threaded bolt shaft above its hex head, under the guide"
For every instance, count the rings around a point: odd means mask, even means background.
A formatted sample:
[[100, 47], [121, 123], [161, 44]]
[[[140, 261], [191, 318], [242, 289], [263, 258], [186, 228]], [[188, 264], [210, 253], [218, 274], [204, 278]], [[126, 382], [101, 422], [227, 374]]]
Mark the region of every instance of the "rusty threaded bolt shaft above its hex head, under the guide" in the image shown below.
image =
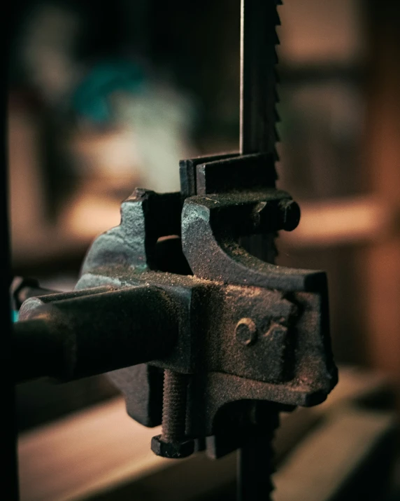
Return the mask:
[[162, 441], [178, 442], [185, 439], [187, 375], [164, 370], [162, 405]]

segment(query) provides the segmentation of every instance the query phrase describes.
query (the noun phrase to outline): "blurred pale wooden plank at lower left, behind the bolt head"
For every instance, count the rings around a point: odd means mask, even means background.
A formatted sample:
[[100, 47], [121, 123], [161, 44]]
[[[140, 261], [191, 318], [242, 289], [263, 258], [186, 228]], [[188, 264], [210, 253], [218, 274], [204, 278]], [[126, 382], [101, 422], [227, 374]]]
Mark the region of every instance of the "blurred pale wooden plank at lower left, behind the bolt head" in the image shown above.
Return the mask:
[[116, 398], [22, 434], [21, 501], [81, 500], [171, 466], [150, 451], [158, 433], [131, 420], [124, 399]]

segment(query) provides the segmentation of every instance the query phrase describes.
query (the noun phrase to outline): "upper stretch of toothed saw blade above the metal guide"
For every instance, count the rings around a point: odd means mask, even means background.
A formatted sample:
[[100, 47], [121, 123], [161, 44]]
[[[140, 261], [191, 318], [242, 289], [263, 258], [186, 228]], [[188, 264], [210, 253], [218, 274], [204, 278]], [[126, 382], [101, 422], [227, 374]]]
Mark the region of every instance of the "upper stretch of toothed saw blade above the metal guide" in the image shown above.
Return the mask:
[[241, 0], [242, 154], [275, 153], [279, 0]]

